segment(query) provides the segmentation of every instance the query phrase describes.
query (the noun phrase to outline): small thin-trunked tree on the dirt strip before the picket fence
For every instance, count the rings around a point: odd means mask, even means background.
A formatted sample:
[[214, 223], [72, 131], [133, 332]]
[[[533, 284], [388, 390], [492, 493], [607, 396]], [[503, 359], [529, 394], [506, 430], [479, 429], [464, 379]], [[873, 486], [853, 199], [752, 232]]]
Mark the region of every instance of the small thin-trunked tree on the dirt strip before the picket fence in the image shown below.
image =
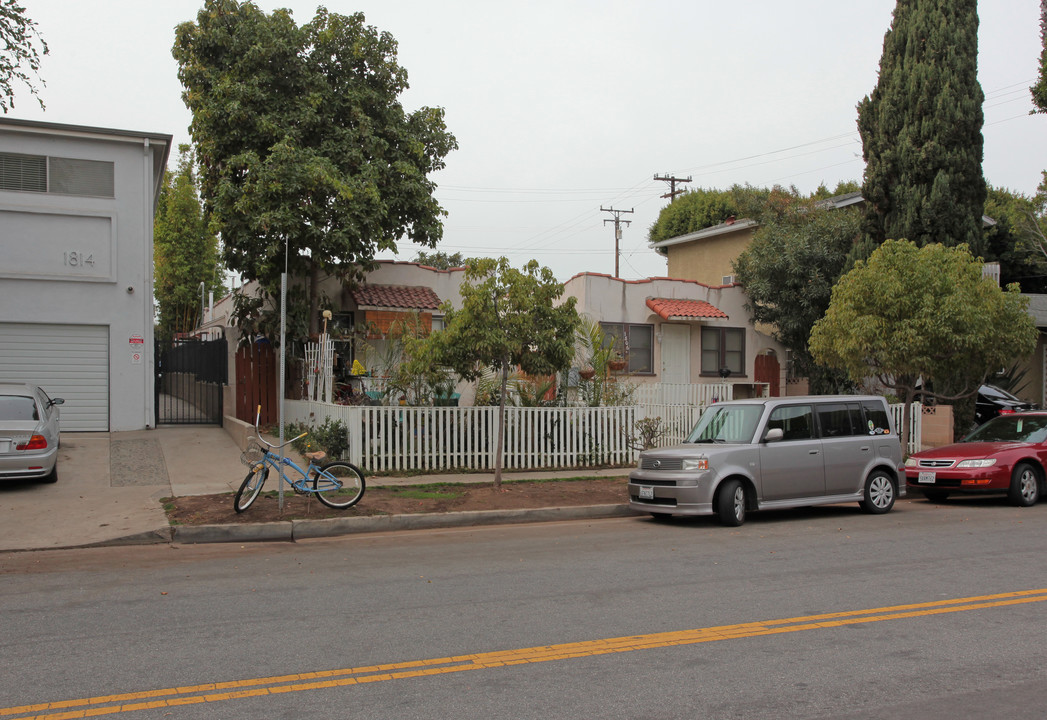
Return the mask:
[[505, 257], [470, 260], [462, 284], [462, 308], [444, 306], [446, 323], [433, 333], [431, 359], [476, 380], [487, 368], [500, 378], [494, 487], [502, 487], [502, 452], [509, 374], [519, 367], [532, 376], [566, 369], [573, 355], [578, 312], [549, 268], [531, 261], [517, 270]]

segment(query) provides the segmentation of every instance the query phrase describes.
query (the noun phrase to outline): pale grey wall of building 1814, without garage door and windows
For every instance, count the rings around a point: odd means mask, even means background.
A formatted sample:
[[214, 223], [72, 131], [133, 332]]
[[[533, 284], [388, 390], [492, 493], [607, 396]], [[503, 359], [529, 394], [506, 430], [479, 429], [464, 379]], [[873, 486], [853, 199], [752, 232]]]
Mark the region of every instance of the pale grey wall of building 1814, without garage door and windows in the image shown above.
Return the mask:
[[[0, 152], [114, 163], [114, 198], [0, 190], [0, 320], [108, 325], [110, 430], [154, 422], [153, 208], [163, 137], [0, 119]], [[73, 252], [91, 263], [73, 265]]]

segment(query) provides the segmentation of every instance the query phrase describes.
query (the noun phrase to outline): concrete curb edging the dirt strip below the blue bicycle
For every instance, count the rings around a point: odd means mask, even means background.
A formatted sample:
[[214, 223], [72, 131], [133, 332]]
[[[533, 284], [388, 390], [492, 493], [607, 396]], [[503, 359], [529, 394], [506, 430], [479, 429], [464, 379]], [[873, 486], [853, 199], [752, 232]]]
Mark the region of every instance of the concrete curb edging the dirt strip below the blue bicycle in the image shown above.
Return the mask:
[[[308, 538], [331, 538], [362, 533], [388, 533], [405, 530], [431, 530], [438, 527], [470, 527], [476, 525], [518, 524], [524, 522], [556, 522], [564, 520], [591, 520], [628, 517], [636, 515], [626, 504], [578, 505], [569, 508], [537, 508], [533, 510], [474, 510], [453, 513], [376, 515], [370, 517], [328, 518], [325, 520], [287, 520], [229, 525], [172, 525], [170, 542], [174, 544], [202, 544], [219, 542], [294, 542]], [[98, 543], [104, 545], [144, 544], [166, 542], [147, 540], [163, 535], [142, 533]], [[135, 538], [140, 538], [135, 541]]]

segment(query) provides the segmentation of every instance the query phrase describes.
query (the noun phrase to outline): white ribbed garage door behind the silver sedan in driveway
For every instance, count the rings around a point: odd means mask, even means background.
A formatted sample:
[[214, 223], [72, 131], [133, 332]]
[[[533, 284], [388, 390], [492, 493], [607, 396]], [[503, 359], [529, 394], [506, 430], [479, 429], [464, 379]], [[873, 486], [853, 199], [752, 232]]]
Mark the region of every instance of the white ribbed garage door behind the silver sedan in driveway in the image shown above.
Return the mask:
[[0, 322], [0, 382], [65, 398], [62, 429], [109, 430], [109, 328]]

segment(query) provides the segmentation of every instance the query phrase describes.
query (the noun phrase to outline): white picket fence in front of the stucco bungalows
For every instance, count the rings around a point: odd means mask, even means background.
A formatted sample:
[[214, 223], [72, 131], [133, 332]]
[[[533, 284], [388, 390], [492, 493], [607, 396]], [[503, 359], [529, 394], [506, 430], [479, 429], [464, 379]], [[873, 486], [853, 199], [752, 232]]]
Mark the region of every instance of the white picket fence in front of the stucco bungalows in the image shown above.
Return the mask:
[[[620, 407], [509, 407], [503, 468], [555, 470], [628, 466], [637, 460], [636, 422], [660, 418], [660, 447], [682, 443], [704, 405]], [[895, 428], [901, 405], [891, 405]], [[493, 470], [497, 407], [403, 407], [331, 405], [288, 400], [288, 422], [321, 425], [327, 418], [349, 428], [351, 463], [370, 472]], [[910, 452], [920, 447], [923, 413], [913, 406]]]

